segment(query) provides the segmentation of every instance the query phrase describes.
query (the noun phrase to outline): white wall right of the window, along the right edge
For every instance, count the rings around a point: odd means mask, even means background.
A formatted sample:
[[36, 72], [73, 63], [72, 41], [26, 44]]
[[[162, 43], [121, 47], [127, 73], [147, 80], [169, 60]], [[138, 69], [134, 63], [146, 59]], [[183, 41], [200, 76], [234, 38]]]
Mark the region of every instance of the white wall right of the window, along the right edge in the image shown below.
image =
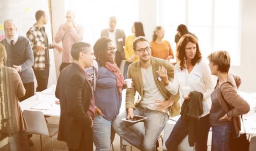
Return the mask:
[[256, 92], [256, 0], [242, 0], [241, 65], [230, 71], [242, 77], [240, 91]]

